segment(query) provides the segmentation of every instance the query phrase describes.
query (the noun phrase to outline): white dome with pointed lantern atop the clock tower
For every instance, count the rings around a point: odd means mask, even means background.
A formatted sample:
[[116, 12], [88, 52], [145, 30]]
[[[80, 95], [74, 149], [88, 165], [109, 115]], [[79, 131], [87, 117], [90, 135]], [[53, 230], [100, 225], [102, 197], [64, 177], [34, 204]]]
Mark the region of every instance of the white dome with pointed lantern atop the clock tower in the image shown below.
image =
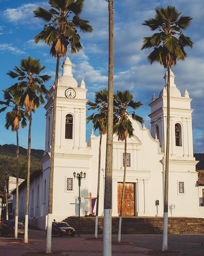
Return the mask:
[[72, 75], [72, 63], [71, 60], [69, 60], [69, 57], [67, 57], [63, 64], [62, 64], [62, 76], [58, 79], [59, 85], [66, 86], [66, 87], [77, 87], [78, 83], [77, 80]]

